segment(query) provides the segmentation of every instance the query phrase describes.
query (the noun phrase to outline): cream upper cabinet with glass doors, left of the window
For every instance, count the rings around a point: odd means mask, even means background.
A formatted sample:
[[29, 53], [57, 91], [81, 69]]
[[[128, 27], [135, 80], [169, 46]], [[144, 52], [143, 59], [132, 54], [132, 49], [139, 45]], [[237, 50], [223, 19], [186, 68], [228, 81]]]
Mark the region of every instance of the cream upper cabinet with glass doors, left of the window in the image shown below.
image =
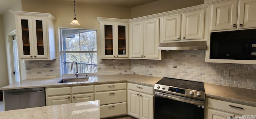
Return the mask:
[[10, 11], [16, 19], [19, 60], [56, 59], [54, 20], [51, 14]]

